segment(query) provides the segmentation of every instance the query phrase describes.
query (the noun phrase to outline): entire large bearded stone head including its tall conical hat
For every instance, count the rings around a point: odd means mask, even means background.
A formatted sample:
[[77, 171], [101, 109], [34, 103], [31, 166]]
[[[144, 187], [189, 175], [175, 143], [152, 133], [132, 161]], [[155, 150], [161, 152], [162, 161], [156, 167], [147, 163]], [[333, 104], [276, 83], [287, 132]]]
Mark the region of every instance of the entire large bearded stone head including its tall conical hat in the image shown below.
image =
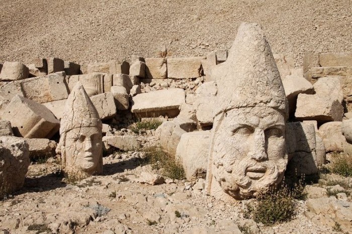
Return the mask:
[[208, 193], [243, 199], [280, 183], [287, 165], [287, 100], [270, 46], [257, 24], [243, 23], [218, 86], [207, 171]]

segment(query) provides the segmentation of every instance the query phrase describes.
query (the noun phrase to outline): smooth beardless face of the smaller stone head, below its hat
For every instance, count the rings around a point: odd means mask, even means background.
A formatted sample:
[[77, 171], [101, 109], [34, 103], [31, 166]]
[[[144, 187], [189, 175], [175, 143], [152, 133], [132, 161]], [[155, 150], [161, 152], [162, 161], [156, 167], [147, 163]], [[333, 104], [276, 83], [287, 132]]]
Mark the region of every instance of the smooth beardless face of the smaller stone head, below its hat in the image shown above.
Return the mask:
[[82, 127], [66, 133], [66, 167], [91, 174], [97, 171], [102, 154], [102, 134], [95, 127]]

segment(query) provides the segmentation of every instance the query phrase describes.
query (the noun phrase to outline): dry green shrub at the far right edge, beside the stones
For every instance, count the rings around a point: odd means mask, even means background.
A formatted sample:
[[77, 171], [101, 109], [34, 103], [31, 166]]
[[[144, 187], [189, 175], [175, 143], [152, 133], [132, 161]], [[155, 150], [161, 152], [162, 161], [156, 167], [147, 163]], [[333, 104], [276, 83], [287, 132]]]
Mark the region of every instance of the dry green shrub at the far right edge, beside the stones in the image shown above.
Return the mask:
[[330, 165], [331, 172], [344, 177], [352, 177], [352, 158], [337, 153], [333, 154], [333, 158]]

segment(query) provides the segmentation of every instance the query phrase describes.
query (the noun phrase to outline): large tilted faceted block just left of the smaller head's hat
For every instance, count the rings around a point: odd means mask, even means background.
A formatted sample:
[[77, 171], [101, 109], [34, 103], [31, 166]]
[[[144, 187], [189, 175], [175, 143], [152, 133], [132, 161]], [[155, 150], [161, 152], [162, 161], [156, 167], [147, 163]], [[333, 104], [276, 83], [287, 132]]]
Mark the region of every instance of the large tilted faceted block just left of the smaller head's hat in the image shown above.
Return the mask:
[[48, 108], [18, 95], [6, 106], [2, 120], [11, 122], [18, 137], [50, 139], [60, 128], [60, 121]]

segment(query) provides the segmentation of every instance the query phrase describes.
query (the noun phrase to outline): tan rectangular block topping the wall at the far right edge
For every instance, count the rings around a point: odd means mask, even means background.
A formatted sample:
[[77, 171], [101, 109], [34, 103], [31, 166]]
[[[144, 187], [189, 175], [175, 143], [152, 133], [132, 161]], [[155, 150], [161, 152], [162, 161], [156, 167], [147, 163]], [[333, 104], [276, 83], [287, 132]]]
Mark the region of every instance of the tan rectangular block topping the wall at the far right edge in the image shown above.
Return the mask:
[[349, 66], [352, 67], [352, 53], [320, 53], [319, 64], [322, 67]]

